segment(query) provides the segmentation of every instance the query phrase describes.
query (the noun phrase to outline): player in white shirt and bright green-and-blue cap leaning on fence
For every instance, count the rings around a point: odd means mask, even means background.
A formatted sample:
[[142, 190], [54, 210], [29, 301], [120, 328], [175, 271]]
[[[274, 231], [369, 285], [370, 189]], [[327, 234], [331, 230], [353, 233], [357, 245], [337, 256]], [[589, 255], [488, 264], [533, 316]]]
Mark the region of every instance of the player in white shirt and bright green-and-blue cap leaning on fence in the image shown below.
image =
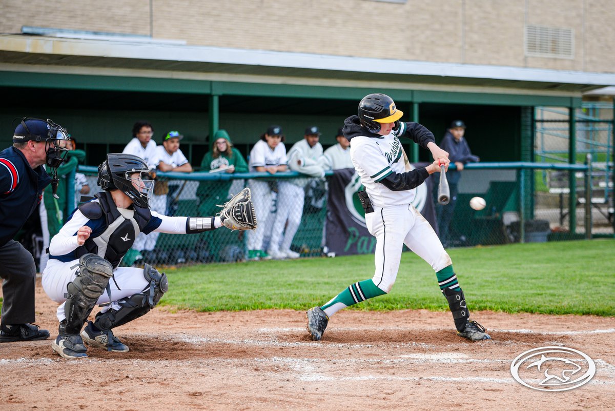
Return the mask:
[[[156, 155], [159, 160], [158, 169], [162, 172], [191, 173], [192, 166], [181, 152], [180, 140], [184, 138], [178, 131], [170, 131], [162, 138], [162, 145], [156, 147]], [[159, 182], [164, 187], [167, 182]], [[165, 196], [166, 215], [173, 216], [177, 212], [177, 197], [186, 181], [169, 180], [167, 195]], [[154, 234], [154, 233], [152, 233]]]

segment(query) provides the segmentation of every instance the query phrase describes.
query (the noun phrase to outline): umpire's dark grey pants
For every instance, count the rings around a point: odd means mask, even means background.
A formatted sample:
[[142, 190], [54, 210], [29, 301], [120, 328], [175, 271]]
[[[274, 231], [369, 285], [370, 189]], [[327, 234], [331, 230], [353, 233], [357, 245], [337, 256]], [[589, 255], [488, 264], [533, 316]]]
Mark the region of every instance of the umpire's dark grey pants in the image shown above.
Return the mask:
[[2, 324], [34, 322], [36, 265], [23, 245], [10, 240], [0, 247]]

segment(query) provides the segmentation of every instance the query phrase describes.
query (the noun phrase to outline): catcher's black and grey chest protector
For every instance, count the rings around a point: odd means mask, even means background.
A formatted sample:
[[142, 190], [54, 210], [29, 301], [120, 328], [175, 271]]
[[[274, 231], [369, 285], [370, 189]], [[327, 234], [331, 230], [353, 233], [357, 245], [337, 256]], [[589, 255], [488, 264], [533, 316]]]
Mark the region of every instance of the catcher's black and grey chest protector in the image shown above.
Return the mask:
[[118, 209], [108, 191], [97, 193], [95, 197], [99, 202], [79, 204], [79, 211], [90, 220], [103, 219], [103, 228], [102, 231], [97, 229], [96, 233], [85, 240], [84, 245], [77, 247], [76, 257], [94, 253], [117, 268], [135, 238], [148, 224], [151, 212], [134, 204], [132, 210]]

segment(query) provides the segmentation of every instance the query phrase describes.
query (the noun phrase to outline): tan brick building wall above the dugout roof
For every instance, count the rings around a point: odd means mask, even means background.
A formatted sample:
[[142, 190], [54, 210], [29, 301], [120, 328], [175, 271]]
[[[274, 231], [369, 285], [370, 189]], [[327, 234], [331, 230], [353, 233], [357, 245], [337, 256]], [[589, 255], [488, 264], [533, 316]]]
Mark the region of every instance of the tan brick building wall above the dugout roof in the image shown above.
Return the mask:
[[[23, 25], [149, 35], [284, 52], [615, 71], [609, 0], [2, 0], [0, 32]], [[525, 25], [574, 31], [573, 58], [526, 57]]]

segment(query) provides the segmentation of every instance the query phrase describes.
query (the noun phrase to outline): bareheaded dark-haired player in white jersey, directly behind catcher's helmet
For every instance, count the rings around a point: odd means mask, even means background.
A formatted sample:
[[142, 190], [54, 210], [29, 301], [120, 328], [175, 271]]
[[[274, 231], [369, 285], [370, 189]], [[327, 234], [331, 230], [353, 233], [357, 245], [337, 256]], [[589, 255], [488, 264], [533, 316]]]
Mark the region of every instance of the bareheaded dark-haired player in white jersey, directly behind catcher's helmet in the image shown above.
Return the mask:
[[[152, 140], [153, 135], [154, 127], [152, 127], [151, 123], [148, 121], [135, 122], [135, 125], [132, 126], [132, 140], [124, 147], [122, 154], [133, 154], [143, 159], [148, 165], [150, 172], [155, 176], [158, 166], [158, 156], [156, 154], [156, 142]], [[154, 190], [156, 190], [156, 187], [154, 187]], [[157, 190], [160, 190], [160, 188]], [[153, 196], [149, 206], [152, 210], [164, 214], [167, 207], [166, 198], [154, 198]], [[139, 233], [132, 246], [133, 249], [138, 252], [136, 260], [141, 260], [143, 258], [142, 254], [144, 250], [152, 251], [154, 249], [156, 239], [148, 239], [145, 234]], [[132, 256], [127, 258], [127, 261], [130, 261], [131, 258]]]

